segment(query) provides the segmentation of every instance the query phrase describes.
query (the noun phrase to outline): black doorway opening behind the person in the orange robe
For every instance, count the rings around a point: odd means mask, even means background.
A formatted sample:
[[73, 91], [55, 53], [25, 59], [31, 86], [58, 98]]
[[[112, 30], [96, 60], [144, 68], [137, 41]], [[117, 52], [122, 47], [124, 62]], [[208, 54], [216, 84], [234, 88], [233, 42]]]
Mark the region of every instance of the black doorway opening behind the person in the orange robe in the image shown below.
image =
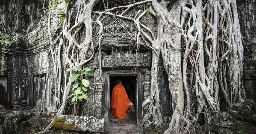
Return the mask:
[[[116, 76], [116, 77], [111, 77], [110, 76], [110, 104], [111, 104], [111, 98], [112, 98], [112, 90], [114, 88], [115, 80], [116, 79], [121, 79], [122, 80], [122, 85], [125, 88], [125, 91], [130, 99], [131, 102], [133, 102], [134, 107], [136, 107], [137, 102], [136, 102], [136, 76]], [[136, 111], [136, 109], [135, 109]], [[136, 124], [136, 112], [132, 113], [131, 109], [128, 108], [126, 111], [128, 119], [125, 120], [127, 123], [132, 123]], [[117, 120], [117, 119], [116, 119]], [[112, 110], [110, 107], [110, 121], [116, 122], [114, 117], [112, 116]]]

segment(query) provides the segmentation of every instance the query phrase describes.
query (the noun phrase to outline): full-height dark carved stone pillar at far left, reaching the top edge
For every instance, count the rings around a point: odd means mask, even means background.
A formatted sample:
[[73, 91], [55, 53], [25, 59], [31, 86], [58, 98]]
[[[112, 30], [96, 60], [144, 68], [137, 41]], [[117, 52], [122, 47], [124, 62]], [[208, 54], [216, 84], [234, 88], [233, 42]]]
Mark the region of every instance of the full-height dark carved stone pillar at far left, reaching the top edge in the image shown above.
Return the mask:
[[23, 0], [14, 1], [13, 6], [13, 109], [28, 109], [30, 103], [29, 74], [27, 64], [26, 28], [27, 15]]

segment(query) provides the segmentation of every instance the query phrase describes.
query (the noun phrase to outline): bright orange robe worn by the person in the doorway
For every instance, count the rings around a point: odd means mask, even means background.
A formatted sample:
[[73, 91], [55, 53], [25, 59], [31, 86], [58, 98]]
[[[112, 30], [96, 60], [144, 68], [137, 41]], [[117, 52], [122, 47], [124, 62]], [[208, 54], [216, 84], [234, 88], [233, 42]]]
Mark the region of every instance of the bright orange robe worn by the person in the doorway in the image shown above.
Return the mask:
[[112, 91], [112, 115], [116, 119], [127, 119], [126, 110], [129, 108], [130, 102], [124, 86], [120, 84], [116, 85]]

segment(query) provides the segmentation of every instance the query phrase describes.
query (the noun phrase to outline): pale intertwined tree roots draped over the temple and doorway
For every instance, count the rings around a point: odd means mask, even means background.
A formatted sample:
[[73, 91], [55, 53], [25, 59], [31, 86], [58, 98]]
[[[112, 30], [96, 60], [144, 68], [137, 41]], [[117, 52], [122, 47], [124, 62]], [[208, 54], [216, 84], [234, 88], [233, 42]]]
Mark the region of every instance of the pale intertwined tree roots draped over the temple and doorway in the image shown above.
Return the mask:
[[[104, 9], [93, 11], [94, 5], [100, 2], [103, 2]], [[145, 0], [113, 8], [108, 8], [108, 5], [109, 1], [104, 0], [69, 1], [66, 13], [61, 10], [49, 13], [49, 27], [51, 14], [66, 14], [62, 29], [56, 30], [59, 32], [52, 36], [48, 29], [51, 40], [49, 53], [54, 63], [58, 93], [57, 114], [64, 113], [72, 85], [67, 79], [72, 72], [64, 72], [62, 87], [63, 69], [83, 67], [96, 53], [99, 57], [97, 77], [101, 78], [104, 32], [135, 42], [136, 54], [139, 46], [152, 50], [150, 94], [142, 104], [143, 108], [148, 108], [143, 115], [143, 127], [148, 127], [148, 124], [159, 127], [163, 123], [158, 84], [160, 54], [168, 74], [173, 106], [172, 120], [166, 133], [195, 133], [193, 126], [200, 114], [205, 116], [208, 128], [209, 117], [220, 113], [219, 95], [224, 96], [226, 107], [232, 107], [234, 102], [243, 102], [243, 46], [235, 0]], [[152, 17], [157, 20], [157, 34], [150, 23], [145, 25], [141, 22], [142, 19], [150, 21]], [[114, 19], [110, 24], [103, 24], [107, 18]], [[135, 36], [129, 34], [124, 37], [117, 33], [118, 30], [106, 28], [116, 22], [128, 34], [127, 27], [135, 27]], [[81, 32], [83, 37], [79, 36]], [[57, 42], [58, 46], [55, 45]], [[60, 59], [62, 49], [64, 63]]]

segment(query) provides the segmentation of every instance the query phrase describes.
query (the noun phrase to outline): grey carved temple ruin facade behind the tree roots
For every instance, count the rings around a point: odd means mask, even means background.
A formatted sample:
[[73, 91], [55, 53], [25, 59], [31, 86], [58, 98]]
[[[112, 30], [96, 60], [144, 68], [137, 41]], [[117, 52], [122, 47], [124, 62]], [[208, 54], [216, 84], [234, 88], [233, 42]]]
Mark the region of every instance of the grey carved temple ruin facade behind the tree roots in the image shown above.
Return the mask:
[[[0, 109], [29, 110], [40, 107], [52, 112], [57, 110], [58, 95], [54, 83], [54, 67], [51, 55], [48, 53], [50, 47], [47, 34], [48, 15], [43, 10], [46, 6], [43, 0], [12, 0], [0, 5]], [[244, 87], [246, 97], [254, 99], [256, 96], [255, 7], [255, 3], [250, 1], [237, 0], [241, 32], [246, 44]], [[51, 17], [54, 20], [51, 21], [51, 32], [54, 32], [60, 24], [60, 19], [57, 15]], [[103, 23], [107, 25], [113, 23], [113, 20], [108, 18]], [[139, 54], [136, 53], [135, 41], [131, 41], [131, 38], [136, 36], [135, 27], [130, 26], [127, 31], [122, 29], [120, 23], [124, 22], [116, 21], [105, 29], [100, 58], [102, 80], [96, 80], [99, 57], [96, 55], [87, 65], [93, 67], [95, 74], [87, 77], [93, 85], [93, 90], [88, 91], [89, 103], [96, 102], [93, 104], [93, 116], [103, 117], [108, 124], [113, 82], [115, 78], [121, 78], [128, 96], [135, 104], [136, 121], [140, 124], [147, 110], [142, 111], [141, 105], [150, 93], [152, 50], [140, 46]], [[150, 21], [142, 20], [141, 23], [157, 34], [154, 18]], [[83, 40], [83, 32], [78, 38], [80, 41]], [[168, 76], [161, 60], [158, 66], [161, 113], [164, 119], [169, 119], [172, 115], [172, 98]]]

